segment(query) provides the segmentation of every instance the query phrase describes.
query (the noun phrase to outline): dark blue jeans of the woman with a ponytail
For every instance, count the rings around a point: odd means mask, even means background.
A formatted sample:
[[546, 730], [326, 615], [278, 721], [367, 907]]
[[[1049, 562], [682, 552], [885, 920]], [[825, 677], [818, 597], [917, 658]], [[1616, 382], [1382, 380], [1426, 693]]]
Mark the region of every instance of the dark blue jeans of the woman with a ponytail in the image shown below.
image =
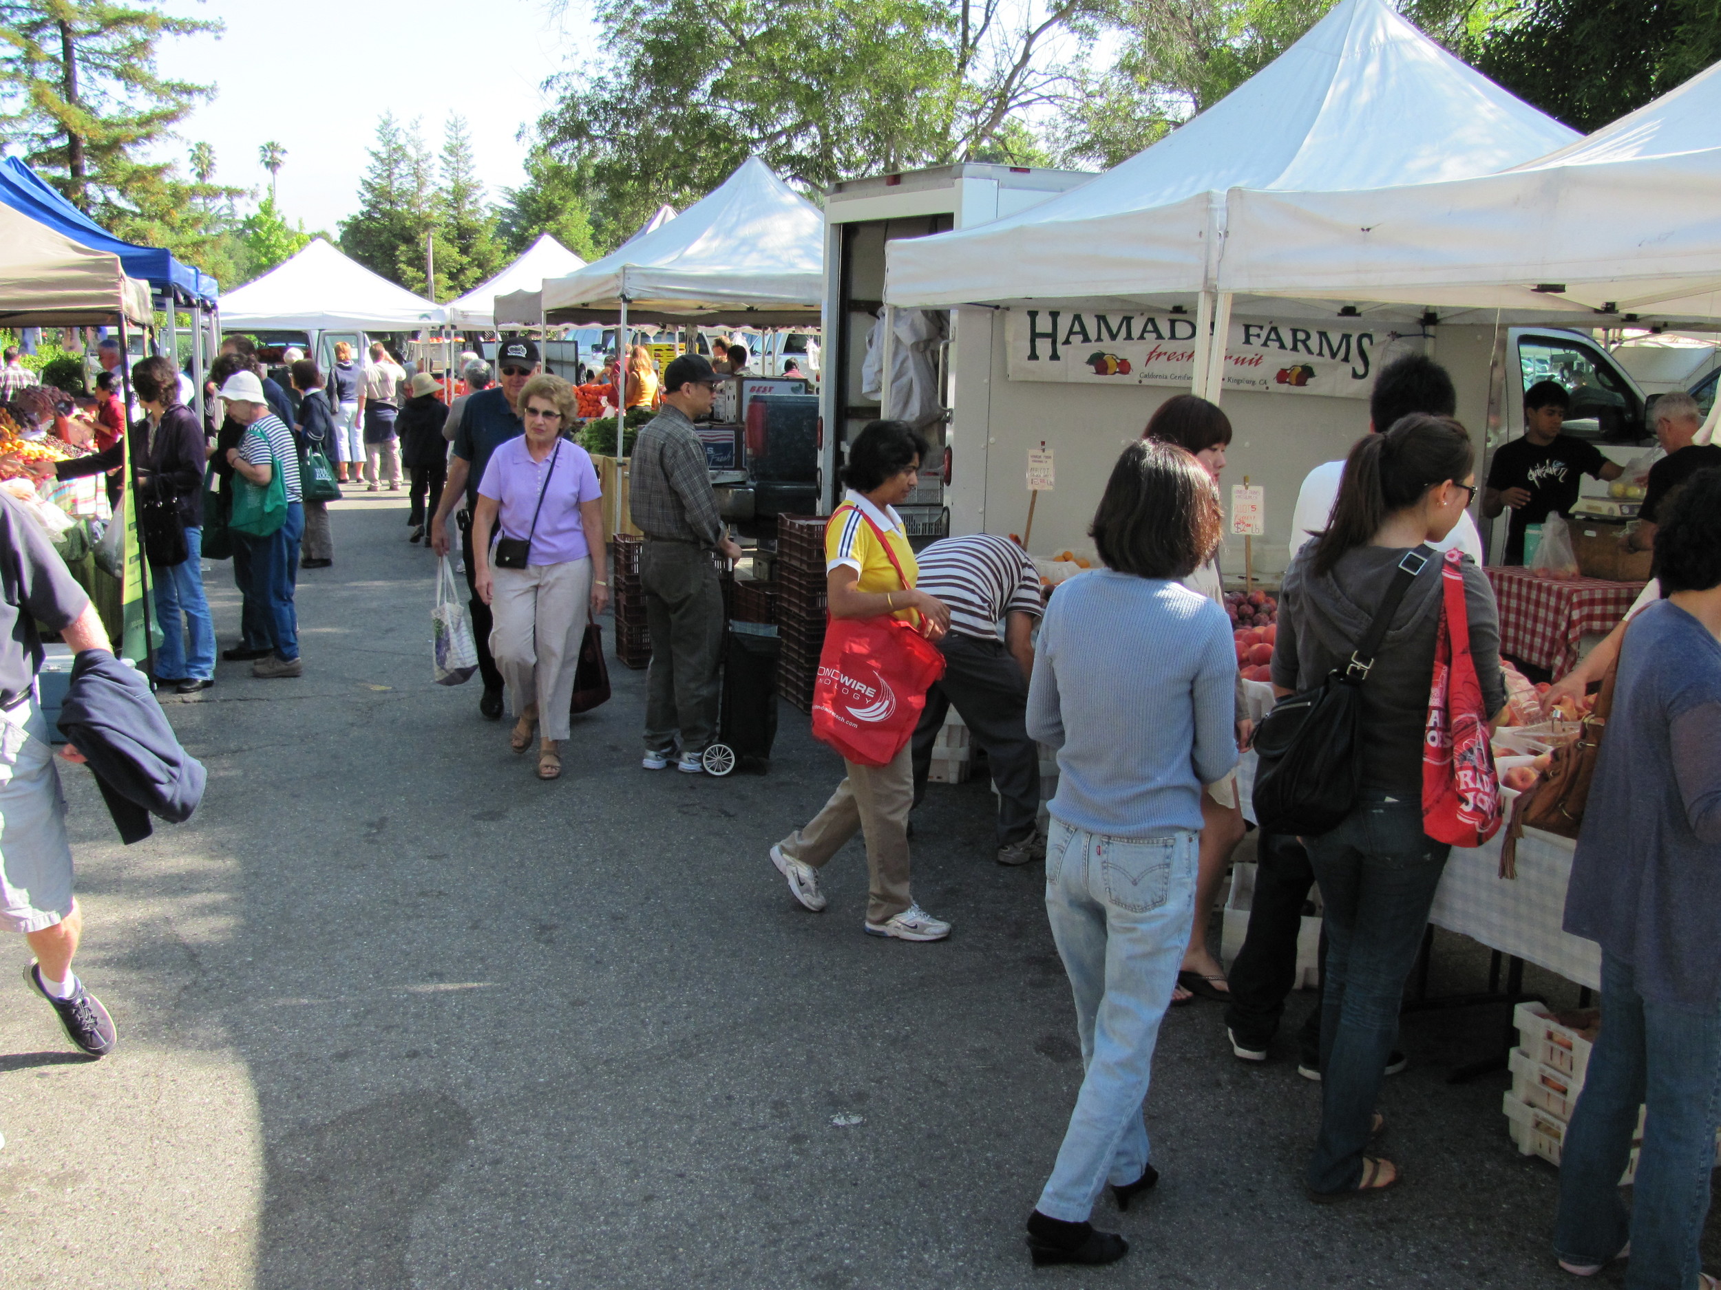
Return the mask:
[[1335, 829], [1303, 845], [1327, 903], [1320, 1137], [1308, 1185], [1344, 1192], [1363, 1180], [1363, 1147], [1397, 1039], [1404, 980], [1453, 848], [1422, 831], [1420, 791], [1372, 789]]

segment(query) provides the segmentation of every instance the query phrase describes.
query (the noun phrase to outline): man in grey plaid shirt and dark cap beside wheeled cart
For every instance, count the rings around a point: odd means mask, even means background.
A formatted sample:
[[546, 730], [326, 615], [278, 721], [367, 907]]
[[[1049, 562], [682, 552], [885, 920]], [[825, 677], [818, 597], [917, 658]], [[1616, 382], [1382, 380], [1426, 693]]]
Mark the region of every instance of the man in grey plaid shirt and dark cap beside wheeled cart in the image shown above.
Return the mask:
[[694, 418], [711, 415], [718, 373], [700, 354], [682, 354], [663, 373], [663, 411], [640, 430], [630, 468], [628, 511], [645, 535], [640, 588], [651, 630], [645, 674], [647, 771], [704, 774], [700, 757], [718, 728], [718, 652], [723, 588], [711, 552], [740, 559], [723, 535], [706, 447]]

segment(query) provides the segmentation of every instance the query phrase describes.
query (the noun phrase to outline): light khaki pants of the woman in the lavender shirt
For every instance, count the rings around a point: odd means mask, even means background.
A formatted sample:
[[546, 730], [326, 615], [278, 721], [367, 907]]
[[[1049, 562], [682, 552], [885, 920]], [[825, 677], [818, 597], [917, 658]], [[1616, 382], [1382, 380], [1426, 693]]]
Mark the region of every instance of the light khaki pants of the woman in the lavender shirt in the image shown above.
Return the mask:
[[492, 566], [490, 576], [490, 654], [508, 683], [509, 710], [518, 717], [527, 703], [537, 703], [539, 736], [566, 740], [592, 557], [525, 569]]

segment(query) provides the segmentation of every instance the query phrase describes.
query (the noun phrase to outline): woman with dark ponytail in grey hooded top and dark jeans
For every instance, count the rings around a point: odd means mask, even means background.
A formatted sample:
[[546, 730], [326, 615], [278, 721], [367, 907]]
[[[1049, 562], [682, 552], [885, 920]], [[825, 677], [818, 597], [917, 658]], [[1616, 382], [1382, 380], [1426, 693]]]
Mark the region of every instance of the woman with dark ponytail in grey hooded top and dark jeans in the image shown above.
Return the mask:
[[[1449, 416], [1411, 415], [1365, 435], [1344, 463], [1332, 519], [1298, 552], [1279, 599], [1274, 690], [1342, 669], [1413, 550], [1427, 557], [1361, 686], [1363, 789], [1330, 832], [1305, 838], [1327, 905], [1322, 980], [1322, 1116], [1306, 1187], [1313, 1201], [1377, 1195], [1391, 1161], [1363, 1154], [1397, 1037], [1399, 1003], [1451, 848], [1422, 831], [1422, 745], [1440, 624], [1442, 540], [1475, 499], [1475, 449]], [[1413, 561], [1415, 562], [1415, 561]], [[1490, 712], [1506, 705], [1494, 590], [1465, 557], [1470, 652]]]

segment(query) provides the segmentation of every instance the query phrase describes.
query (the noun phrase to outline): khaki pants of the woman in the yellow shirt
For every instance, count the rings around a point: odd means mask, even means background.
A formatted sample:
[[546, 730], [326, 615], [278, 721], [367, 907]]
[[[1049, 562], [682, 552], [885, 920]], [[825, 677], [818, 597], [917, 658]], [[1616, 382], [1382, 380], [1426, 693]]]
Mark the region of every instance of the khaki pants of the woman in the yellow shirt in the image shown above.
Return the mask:
[[866, 836], [866, 920], [883, 924], [909, 905], [909, 808], [914, 807], [914, 753], [909, 743], [890, 765], [845, 760], [848, 777], [812, 822], [788, 834], [780, 846], [814, 869], [823, 869], [859, 829]]

